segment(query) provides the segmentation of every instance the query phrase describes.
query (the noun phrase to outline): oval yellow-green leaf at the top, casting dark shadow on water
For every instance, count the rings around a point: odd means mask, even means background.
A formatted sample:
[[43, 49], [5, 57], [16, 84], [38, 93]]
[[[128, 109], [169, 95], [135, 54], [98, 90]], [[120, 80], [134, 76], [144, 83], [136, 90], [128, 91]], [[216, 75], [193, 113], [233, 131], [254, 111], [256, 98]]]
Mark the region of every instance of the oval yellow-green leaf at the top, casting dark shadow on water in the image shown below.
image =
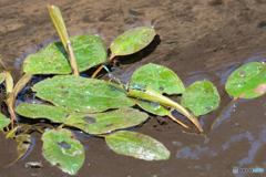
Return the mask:
[[155, 31], [150, 27], [131, 29], [117, 37], [111, 44], [112, 55], [127, 55], [147, 46], [155, 37]]

